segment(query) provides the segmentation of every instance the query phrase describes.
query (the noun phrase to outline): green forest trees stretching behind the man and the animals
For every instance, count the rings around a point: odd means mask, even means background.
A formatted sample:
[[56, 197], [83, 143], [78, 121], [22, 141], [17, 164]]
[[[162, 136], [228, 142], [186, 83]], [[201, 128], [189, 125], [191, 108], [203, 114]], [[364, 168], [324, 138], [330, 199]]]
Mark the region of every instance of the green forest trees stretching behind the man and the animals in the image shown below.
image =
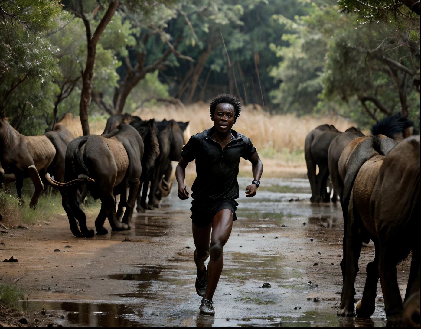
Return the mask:
[[24, 135], [67, 112], [87, 135], [98, 117], [219, 93], [266, 118], [339, 116], [366, 129], [402, 113], [419, 132], [414, 0], [0, 3], [0, 111]]

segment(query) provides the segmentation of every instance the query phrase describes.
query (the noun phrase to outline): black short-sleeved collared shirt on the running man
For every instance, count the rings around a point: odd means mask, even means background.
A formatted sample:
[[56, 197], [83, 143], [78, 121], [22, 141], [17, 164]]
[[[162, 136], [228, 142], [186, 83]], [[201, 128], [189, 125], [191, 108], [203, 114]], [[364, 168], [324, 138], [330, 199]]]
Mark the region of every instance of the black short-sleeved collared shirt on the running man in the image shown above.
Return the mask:
[[256, 152], [250, 138], [231, 130], [232, 139], [222, 149], [212, 139], [215, 128], [193, 135], [183, 147], [181, 157], [187, 162], [196, 159], [197, 177], [192, 198], [201, 204], [213, 204], [239, 197], [237, 182], [240, 157], [248, 160]]

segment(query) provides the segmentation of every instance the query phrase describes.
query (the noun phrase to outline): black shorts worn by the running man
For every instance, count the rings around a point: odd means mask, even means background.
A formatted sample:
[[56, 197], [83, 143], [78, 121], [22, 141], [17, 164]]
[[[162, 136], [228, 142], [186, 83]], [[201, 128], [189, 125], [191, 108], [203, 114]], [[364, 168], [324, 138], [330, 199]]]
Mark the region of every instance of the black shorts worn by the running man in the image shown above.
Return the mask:
[[212, 223], [213, 217], [222, 209], [229, 209], [232, 212], [232, 220], [237, 220], [235, 210], [237, 210], [238, 203], [234, 199], [222, 200], [213, 204], [200, 204], [195, 200], [192, 202], [192, 223], [197, 227], [205, 227]]

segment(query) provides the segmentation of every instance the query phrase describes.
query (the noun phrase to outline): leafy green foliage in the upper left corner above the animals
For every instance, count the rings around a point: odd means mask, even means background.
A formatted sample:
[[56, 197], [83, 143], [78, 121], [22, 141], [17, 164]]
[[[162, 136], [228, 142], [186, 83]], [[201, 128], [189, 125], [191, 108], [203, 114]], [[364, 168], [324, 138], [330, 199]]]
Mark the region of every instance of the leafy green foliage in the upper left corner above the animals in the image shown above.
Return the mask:
[[22, 133], [39, 134], [38, 122], [45, 122], [52, 109], [49, 97], [51, 81], [59, 72], [55, 57], [59, 49], [45, 33], [60, 23], [60, 6], [48, 0], [2, 3], [0, 111]]

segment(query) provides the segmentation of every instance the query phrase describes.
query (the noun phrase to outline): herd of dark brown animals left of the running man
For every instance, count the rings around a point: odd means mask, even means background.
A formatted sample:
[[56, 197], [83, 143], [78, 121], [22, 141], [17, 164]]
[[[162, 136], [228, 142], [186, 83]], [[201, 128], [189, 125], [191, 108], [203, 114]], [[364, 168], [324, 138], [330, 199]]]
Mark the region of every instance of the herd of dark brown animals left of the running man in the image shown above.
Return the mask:
[[[144, 212], [159, 207], [160, 199], [168, 196], [171, 161], [180, 160], [188, 124], [165, 119], [145, 121], [123, 114], [109, 117], [101, 135], [76, 137], [59, 120], [53, 131], [24, 136], [0, 117], [0, 162], [4, 171], [0, 183], [14, 181], [23, 202], [23, 180], [30, 177], [35, 186], [31, 208], [36, 207], [46, 184], [58, 188], [76, 237], [94, 235], [80, 207], [88, 192], [101, 200], [95, 220], [97, 234], [108, 233], [104, 228], [106, 218], [112, 231], [130, 229], [136, 199], [136, 210]], [[120, 201], [116, 211], [117, 195]]]

